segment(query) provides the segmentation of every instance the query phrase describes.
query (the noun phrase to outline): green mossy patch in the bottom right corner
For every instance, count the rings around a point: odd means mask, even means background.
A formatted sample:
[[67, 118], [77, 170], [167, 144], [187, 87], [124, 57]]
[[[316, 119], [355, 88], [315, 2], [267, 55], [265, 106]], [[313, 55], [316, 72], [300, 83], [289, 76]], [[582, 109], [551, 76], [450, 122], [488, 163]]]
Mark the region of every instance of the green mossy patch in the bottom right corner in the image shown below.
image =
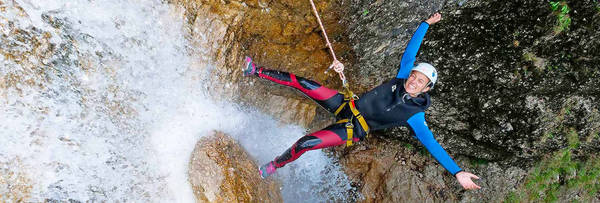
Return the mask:
[[568, 146], [544, 158], [525, 178], [523, 185], [510, 192], [504, 202], [557, 202], [559, 197], [578, 192], [580, 201], [594, 200], [600, 191], [600, 158], [573, 158], [579, 148], [579, 135], [574, 129], [567, 134]]

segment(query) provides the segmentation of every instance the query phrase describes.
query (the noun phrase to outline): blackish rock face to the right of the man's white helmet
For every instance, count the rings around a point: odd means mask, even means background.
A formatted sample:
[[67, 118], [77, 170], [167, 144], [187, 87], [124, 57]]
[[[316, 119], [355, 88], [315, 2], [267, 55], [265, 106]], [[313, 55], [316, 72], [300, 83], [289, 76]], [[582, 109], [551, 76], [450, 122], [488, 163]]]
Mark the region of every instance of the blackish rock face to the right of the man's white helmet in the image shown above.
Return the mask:
[[[590, 21], [598, 15], [591, 3], [570, 7], [570, 30], [562, 33], [554, 31], [557, 16], [547, 2], [473, 1], [450, 9], [421, 51], [441, 69], [432, 114], [456, 119], [441, 124], [440, 134], [484, 146], [465, 154], [521, 160], [565, 147], [550, 143], [564, 140], [569, 128], [582, 139], [598, 133], [599, 46], [590, 40], [598, 37]], [[556, 136], [541, 139], [548, 134]]]

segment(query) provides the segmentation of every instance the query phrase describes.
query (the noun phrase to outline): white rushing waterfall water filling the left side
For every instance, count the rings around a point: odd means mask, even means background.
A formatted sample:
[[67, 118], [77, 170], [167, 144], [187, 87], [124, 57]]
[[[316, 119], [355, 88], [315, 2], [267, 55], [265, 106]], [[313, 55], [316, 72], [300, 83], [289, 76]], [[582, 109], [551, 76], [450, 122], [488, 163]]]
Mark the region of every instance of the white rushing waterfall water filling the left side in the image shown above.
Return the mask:
[[[163, 1], [0, 7], [0, 202], [15, 191], [27, 202], [193, 202], [187, 164], [200, 137], [223, 131], [265, 163], [305, 133], [208, 99], [192, 79], [207, 71], [188, 68], [198, 47], [187, 47], [183, 12]], [[320, 150], [275, 178], [286, 202], [346, 201], [352, 189]]]

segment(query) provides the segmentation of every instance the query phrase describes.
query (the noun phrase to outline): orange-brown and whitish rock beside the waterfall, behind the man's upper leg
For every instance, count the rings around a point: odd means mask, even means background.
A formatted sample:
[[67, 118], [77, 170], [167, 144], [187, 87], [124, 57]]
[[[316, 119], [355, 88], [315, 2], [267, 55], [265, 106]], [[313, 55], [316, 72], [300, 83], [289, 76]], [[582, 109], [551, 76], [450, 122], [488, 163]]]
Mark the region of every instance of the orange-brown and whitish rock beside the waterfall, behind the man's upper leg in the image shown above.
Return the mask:
[[[331, 56], [308, 1], [171, 3], [186, 9], [186, 29], [197, 62], [192, 66], [211, 71], [214, 77], [200, 79], [208, 81], [212, 95], [218, 99], [241, 101], [285, 123], [308, 127], [313, 121], [317, 105], [301, 93], [272, 82], [241, 77], [245, 55], [253, 57], [258, 65], [293, 72], [334, 89], [341, 87], [333, 71], [324, 73]], [[345, 45], [343, 27], [337, 23], [338, 13], [331, 12], [337, 3], [318, 1], [316, 6], [338, 57], [344, 58], [350, 48]]]

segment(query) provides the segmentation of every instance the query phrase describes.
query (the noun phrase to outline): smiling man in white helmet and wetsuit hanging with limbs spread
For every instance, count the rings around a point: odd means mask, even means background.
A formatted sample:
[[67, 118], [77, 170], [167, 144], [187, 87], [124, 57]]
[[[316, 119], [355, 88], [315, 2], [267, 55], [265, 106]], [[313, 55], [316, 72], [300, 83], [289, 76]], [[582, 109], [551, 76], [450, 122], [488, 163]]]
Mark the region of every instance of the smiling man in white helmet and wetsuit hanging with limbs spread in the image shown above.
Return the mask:
[[[287, 151], [259, 168], [263, 178], [275, 173], [277, 168], [298, 159], [308, 150], [338, 146], [363, 140], [369, 131], [397, 126], [407, 126], [431, 155], [465, 189], [479, 189], [471, 178], [477, 176], [462, 171], [448, 153], [435, 140], [425, 121], [425, 110], [431, 105], [427, 92], [437, 82], [436, 69], [428, 63], [415, 65], [416, 55], [430, 25], [441, 20], [439, 13], [421, 22], [402, 55], [398, 74], [392, 80], [370, 90], [355, 102], [344, 100], [344, 95], [318, 83], [294, 74], [256, 68], [247, 57], [243, 67], [245, 76], [258, 76], [278, 84], [296, 88], [336, 115], [338, 122], [325, 129], [300, 138]], [[341, 68], [340, 68], [341, 67]], [[336, 66], [342, 71], [343, 66]]]

